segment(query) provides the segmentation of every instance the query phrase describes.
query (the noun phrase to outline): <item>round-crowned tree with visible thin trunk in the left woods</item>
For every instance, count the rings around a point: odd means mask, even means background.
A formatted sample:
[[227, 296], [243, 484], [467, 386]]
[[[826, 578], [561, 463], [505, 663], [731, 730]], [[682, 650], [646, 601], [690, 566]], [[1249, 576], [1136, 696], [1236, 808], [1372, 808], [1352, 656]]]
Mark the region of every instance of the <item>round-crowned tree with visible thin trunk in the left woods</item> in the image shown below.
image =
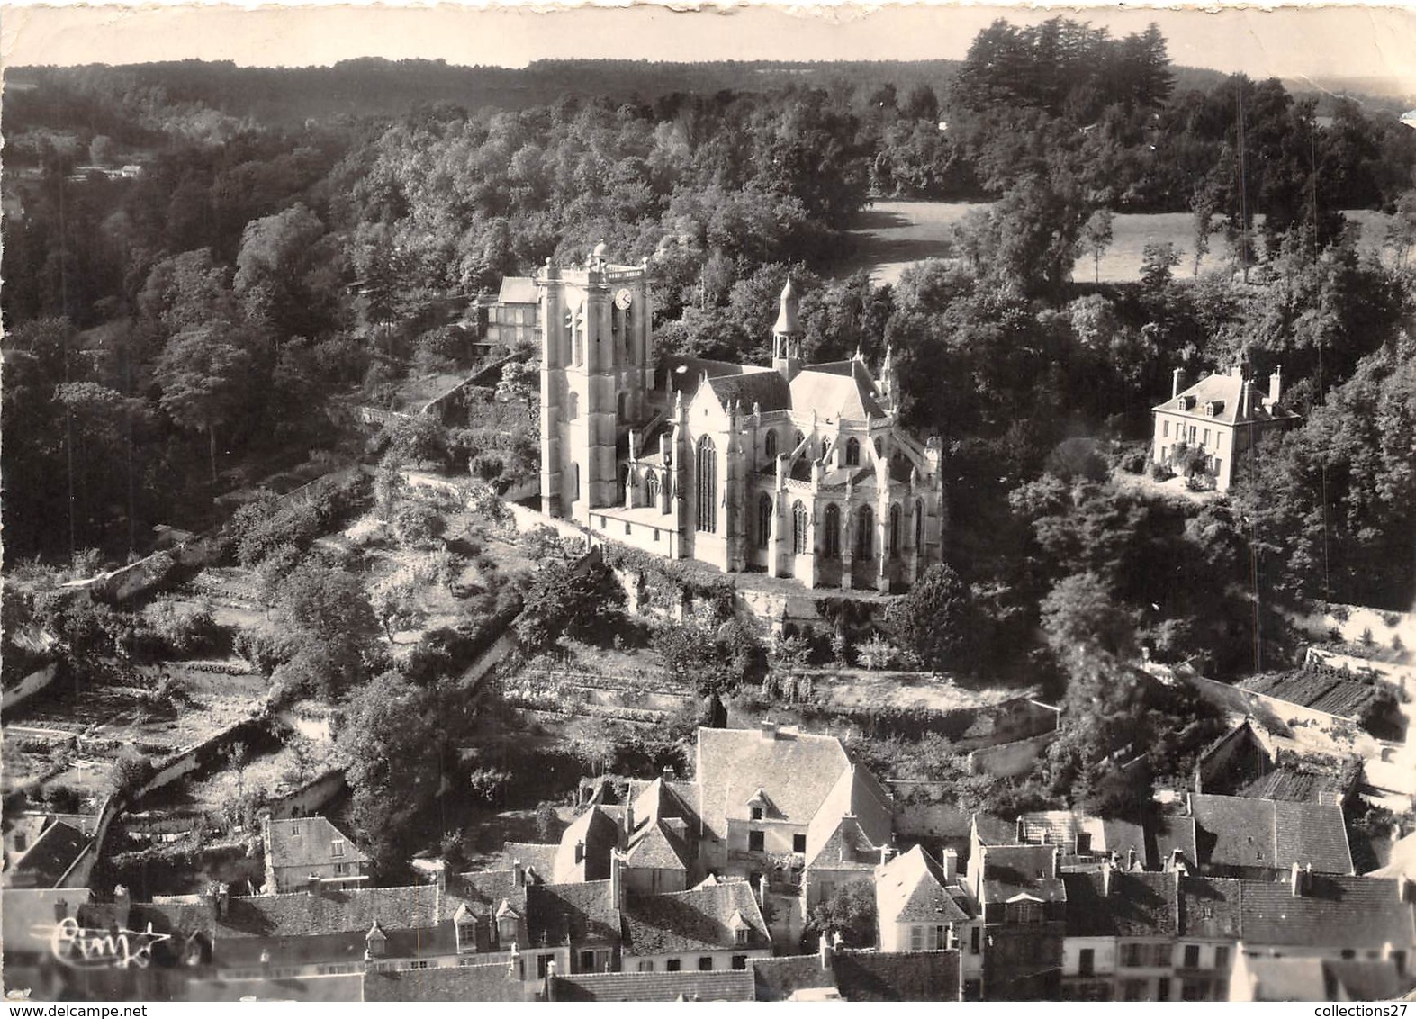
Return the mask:
[[219, 326], [178, 333], [157, 359], [159, 403], [181, 427], [207, 433], [211, 487], [217, 488], [217, 426], [232, 422], [246, 396], [251, 355]]

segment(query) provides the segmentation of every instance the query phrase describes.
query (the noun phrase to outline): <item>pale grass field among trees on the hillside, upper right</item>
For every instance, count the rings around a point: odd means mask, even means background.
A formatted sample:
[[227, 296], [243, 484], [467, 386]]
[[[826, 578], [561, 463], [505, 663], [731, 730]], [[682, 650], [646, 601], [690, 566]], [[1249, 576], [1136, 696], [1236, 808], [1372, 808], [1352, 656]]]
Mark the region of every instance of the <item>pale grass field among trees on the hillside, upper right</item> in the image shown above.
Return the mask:
[[[988, 208], [983, 202], [933, 202], [933, 201], [877, 201], [861, 212], [852, 231], [857, 239], [857, 255], [845, 272], [867, 269], [877, 283], [895, 283], [905, 266], [929, 258], [950, 255], [950, 236], [954, 225], [973, 209]], [[1344, 214], [1349, 222], [1362, 228], [1359, 246], [1378, 251], [1386, 231], [1389, 217], [1382, 212], [1357, 209]], [[1090, 255], [1076, 260], [1072, 279], [1103, 283], [1126, 283], [1140, 279], [1141, 253], [1148, 243], [1170, 241], [1182, 253], [1175, 276], [1185, 279], [1195, 269], [1195, 238], [1188, 212], [1123, 212], [1112, 224], [1114, 239], [1093, 265]], [[1201, 272], [1219, 269], [1229, 258], [1229, 249], [1222, 236], [1209, 238], [1209, 253], [1199, 263]]]

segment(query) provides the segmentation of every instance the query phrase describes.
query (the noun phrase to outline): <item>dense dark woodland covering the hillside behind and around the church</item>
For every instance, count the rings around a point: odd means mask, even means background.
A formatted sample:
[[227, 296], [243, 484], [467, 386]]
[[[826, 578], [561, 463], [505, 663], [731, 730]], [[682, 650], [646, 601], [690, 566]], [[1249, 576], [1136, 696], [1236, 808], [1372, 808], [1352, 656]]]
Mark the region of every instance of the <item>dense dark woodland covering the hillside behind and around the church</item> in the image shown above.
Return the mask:
[[[1051, 583], [1028, 565], [1038, 521], [1102, 511], [1073, 491], [1020, 514], [1010, 493], [1070, 478], [1068, 440], [1143, 437], [1172, 368], [1240, 355], [1281, 364], [1307, 415], [1264, 461], [1283, 477], [1255, 483], [1283, 498], [1253, 514], [1266, 548], [1318, 542], [1314, 500], [1347, 507], [1325, 521], [1321, 579], [1311, 556], [1276, 555], [1274, 586], [1410, 600], [1402, 450], [1320, 470], [1321, 494], [1301, 478], [1328, 456], [1318, 429], [1393, 442], [1332, 408], [1409, 409], [1416, 132], [1355, 100], [1320, 113], [1279, 81], [1177, 69], [1155, 30], [1065, 18], [1000, 21], [957, 64], [810, 71], [10, 71], [10, 555], [120, 556], [153, 524], [210, 524], [242, 468], [337, 442], [329, 399], [466, 368], [449, 303], [605, 241], [649, 259], [660, 350], [760, 358], [789, 270], [810, 357], [893, 345], [909, 423], [954, 464], [954, 562], [1001, 617]], [[956, 258], [889, 287], [838, 272], [872, 197], [991, 205], [960, 225]], [[1398, 214], [1385, 265], [1344, 229], [1359, 208]], [[1189, 214], [1194, 252], [1223, 249], [1232, 270], [1192, 279], [1153, 251], [1140, 283], [1072, 280], [1112, 211]]]

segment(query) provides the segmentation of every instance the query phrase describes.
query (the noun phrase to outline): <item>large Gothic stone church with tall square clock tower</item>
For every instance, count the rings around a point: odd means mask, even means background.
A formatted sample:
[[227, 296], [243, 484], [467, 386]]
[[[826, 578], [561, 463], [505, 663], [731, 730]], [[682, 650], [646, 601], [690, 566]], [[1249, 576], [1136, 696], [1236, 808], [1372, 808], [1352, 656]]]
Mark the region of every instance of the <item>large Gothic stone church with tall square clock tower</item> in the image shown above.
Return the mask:
[[782, 290], [772, 364], [666, 357], [651, 345], [649, 265], [532, 277], [541, 318], [541, 508], [607, 539], [728, 573], [902, 592], [939, 562], [939, 442], [896, 423], [886, 351], [801, 364]]

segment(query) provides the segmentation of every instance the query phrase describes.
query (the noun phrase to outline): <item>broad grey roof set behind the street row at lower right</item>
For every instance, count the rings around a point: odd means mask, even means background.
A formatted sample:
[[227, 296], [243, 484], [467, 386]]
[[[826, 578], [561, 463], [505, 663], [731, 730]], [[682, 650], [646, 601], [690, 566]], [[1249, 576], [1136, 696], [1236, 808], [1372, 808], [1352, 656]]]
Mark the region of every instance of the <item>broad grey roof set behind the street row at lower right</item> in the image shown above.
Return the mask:
[[1199, 863], [1225, 868], [1313, 865], [1323, 873], [1352, 873], [1347, 822], [1335, 804], [1191, 795]]

